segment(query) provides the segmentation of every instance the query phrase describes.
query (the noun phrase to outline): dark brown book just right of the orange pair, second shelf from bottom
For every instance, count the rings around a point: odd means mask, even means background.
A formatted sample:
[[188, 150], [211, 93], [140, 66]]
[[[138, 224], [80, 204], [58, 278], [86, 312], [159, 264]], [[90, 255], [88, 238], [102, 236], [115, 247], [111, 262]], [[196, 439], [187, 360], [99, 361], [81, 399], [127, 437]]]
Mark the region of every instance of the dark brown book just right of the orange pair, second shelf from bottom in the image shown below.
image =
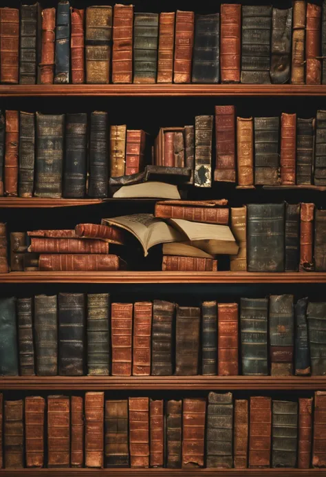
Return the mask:
[[173, 374], [172, 341], [175, 304], [170, 301], [153, 301], [153, 326], [151, 343], [151, 374]]

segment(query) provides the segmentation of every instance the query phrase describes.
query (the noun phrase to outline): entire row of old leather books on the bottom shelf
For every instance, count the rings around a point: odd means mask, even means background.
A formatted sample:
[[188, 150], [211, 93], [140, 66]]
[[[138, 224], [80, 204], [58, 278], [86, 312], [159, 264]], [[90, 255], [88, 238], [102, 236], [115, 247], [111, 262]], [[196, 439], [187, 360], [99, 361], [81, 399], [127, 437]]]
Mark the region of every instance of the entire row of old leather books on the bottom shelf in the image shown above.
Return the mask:
[[325, 410], [323, 391], [293, 401], [0, 394], [0, 467], [325, 467]]

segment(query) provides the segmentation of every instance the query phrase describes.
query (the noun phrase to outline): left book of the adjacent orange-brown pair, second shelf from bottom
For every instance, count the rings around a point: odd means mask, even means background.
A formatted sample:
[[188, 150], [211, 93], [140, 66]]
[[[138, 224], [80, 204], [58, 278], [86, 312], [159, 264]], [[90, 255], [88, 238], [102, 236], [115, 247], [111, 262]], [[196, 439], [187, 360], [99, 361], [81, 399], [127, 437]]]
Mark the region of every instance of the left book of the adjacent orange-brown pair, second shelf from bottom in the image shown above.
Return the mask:
[[112, 376], [131, 376], [133, 304], [111, 305]]

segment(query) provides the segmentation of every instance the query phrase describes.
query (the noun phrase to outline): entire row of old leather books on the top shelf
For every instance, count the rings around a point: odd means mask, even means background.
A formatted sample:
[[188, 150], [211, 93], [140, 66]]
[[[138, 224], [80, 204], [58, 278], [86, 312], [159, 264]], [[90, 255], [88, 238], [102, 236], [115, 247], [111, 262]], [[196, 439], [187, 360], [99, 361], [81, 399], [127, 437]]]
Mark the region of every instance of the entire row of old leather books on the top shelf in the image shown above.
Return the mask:
[[325, 7], [305, 0], [294, 1], [293, 15], [233, 3], [208, 15], [70, 10], [63, 0], [42, 12], [39, 3], [2, 8], [1, 23], [2, 83], [326, 81]]

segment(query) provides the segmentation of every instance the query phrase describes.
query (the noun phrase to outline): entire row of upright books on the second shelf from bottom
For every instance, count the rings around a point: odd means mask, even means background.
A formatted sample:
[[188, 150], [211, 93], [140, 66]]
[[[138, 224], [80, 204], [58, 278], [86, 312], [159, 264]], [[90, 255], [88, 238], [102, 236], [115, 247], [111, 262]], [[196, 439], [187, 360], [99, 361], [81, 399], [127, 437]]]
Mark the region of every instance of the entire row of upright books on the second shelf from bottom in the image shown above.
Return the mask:
[[0, 311], [2, 376], [326, 375], [326, 303], [293, 295], [199, 307], [59, 293]]

